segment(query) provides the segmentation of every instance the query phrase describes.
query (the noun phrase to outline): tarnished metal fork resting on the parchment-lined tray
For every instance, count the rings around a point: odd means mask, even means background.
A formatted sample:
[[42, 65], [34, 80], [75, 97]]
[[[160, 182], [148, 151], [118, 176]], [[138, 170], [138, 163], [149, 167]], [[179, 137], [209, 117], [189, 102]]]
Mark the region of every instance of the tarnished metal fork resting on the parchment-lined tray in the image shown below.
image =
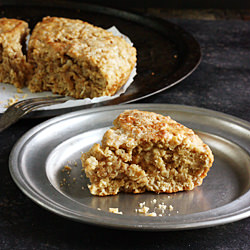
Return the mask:
[[70, 100], [65, 96], [38, 97], [22, 100], [11, 105], [0, 118], [0, 132], [17, 122], [21, 117], [37, 108], [64, 103]]

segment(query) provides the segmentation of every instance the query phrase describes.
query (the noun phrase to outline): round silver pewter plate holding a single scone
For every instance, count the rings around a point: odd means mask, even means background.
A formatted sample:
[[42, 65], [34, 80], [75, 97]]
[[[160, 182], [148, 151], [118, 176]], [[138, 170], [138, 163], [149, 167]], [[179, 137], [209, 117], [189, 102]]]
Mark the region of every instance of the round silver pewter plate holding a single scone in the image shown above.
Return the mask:
[[[202, 186], [176, 194], [95, 197], [81, 171], [81, 152], [100, 142], [125, 109], [170, 115], [194, 129], [211, 147], [215, 162]], [[223, 113], [169, 104], [133, 104], [76, 111], [27, 132], [10, 155], [19, 188], [42, 207], [70, 219], [132, 230], [180, 230], [229, 223], [250, 215], [250, 124]], [[62, 171], [68, 165], [71, 171]], [[136, 213], [145, 202], [157, 217]], [[173, 206], [162, 212], [158, 205]], [[119, 208], [123, 215], [109, 212]]]

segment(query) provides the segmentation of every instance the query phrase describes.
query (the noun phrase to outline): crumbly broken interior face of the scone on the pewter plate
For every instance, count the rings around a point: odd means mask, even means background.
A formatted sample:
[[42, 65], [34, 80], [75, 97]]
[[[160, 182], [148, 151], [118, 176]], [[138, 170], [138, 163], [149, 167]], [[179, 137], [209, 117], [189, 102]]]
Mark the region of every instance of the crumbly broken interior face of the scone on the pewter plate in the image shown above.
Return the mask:
[[188, 143], [138, 141], [112, 128], [82, 156], [93, 195], [118, 192], [172, 193], [201, 185], [211, 165], [207, 146], [197, 151]]

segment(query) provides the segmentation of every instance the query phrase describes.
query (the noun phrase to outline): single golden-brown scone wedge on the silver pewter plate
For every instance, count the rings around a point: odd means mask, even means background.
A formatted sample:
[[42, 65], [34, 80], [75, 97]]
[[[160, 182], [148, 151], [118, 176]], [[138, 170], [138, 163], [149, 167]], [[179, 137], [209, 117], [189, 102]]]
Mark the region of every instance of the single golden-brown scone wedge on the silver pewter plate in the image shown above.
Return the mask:
[[170, 117], [127, 110], [81, 160], [91, 194], [106, 196], [192, 190], [214, 158], [193, 130]]

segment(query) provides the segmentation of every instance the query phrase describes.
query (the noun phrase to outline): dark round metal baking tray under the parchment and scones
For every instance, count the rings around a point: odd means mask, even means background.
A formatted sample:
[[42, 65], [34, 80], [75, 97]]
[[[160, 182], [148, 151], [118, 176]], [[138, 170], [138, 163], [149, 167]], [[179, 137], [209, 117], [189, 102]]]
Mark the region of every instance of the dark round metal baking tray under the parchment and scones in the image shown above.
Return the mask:
[[29, 117], [55, 116], [83, 108], [137, 101], [179, 83], [201, 60], [198, 42], [178, 25], [122, 10], [70, 1], [7, 0], [0, 2], [0, 15], [26, 20], [31, 29], [44, 16], [82, 19], [103, 28], [115, 25], [137, 49], [137, 76], [119, 98], [73, 108], [35, 111]]

